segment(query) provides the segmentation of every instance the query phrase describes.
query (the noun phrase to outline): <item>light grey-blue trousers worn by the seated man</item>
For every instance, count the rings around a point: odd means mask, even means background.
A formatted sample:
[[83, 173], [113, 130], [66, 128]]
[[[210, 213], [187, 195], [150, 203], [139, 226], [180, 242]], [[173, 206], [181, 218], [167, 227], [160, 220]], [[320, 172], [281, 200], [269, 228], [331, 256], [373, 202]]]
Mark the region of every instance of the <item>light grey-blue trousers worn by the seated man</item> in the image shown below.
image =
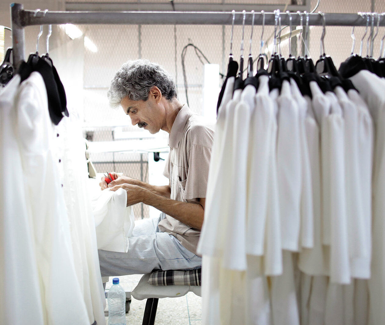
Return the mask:
[[136, 220], [127, 253], [98, 250], [102, 276], [150, 273], [152, 270], [191, 270], [202, 265], [202, 258], [184, 248], [172, 235], [161, 232], [158, 223], [165, 218]]

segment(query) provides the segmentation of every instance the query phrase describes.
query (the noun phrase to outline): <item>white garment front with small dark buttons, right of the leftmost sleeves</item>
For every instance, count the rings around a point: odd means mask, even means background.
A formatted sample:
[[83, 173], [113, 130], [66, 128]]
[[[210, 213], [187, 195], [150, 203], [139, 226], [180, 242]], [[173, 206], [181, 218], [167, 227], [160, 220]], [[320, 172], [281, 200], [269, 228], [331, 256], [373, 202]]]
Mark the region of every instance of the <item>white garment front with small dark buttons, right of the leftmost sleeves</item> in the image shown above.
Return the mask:
[[[99, 257], [92, 214], [90, 194], [87, 188], [88, 170], [84, 163], [84, 138], [79, 117], [69, 108], [70, 116], [55, 127], [55, 147], [59, 172], [64, 177], [64, 199], [69, 218], [75, 271], [84, 297], [89, 322], [105, 323], [105, 296], [100, 278]], [[100, 189], [98, 189], [100, 193]]]

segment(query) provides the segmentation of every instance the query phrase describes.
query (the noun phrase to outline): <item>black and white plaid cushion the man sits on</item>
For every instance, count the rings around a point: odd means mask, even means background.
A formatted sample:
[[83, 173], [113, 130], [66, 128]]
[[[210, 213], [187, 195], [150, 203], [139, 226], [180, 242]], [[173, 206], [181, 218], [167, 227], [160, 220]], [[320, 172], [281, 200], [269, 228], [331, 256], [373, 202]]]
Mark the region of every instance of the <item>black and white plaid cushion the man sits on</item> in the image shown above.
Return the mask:
[[155, 271], [148, 283], [151, 285], [201, 285], [201, 269], [190, 271]]

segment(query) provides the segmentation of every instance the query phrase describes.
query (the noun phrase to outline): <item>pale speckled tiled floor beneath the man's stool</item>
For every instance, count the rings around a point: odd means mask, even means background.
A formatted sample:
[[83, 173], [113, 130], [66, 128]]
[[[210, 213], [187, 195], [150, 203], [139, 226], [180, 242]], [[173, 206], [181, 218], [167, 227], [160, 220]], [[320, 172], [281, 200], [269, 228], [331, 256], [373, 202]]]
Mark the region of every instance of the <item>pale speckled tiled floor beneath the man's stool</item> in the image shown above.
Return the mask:
[[[142, 275], [119, 276], [120, 284], [125, 291], [135, 288]], [[106, 289], [112, 286], [112, 277], [107, 282]], [[130, 311], [126, 314], [127, 325], [141, 325], [146, 300], [136, 300], [131, 297]], [[106, 307], [108, 310], [108, 305]], [[155, 325], [201, 325], [202, 298], [192, 292], [178, 298], [159, 299]], [[105, 318], [108, 324], [108, 316]]]

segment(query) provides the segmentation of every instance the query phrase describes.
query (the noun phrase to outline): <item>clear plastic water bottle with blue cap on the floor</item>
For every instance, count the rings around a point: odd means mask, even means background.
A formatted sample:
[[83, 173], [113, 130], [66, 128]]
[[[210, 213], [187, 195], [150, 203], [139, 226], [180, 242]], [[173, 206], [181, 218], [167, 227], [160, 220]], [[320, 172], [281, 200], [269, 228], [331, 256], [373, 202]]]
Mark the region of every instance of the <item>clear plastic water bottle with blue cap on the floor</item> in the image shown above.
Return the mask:
[[119, 278], [112, 279], [108, 291], [108, 325], [126, 325], [126, 292], [119, 285]]

